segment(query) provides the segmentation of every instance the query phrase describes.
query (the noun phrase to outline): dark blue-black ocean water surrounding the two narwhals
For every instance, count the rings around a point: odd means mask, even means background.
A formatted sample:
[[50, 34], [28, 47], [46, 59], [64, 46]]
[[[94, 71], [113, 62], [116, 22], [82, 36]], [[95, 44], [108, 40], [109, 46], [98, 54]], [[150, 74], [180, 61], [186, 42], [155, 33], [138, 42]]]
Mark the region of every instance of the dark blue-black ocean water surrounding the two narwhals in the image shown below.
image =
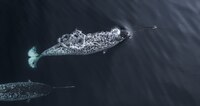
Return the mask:
[[[75, 85], [30, 103], [0, 106], [200, 106], [199, 0], [0, 0], [0, 83], [28, 81]], [[27, 63], [62, 34], [136, 32], [103, 55], [42, 58]]]

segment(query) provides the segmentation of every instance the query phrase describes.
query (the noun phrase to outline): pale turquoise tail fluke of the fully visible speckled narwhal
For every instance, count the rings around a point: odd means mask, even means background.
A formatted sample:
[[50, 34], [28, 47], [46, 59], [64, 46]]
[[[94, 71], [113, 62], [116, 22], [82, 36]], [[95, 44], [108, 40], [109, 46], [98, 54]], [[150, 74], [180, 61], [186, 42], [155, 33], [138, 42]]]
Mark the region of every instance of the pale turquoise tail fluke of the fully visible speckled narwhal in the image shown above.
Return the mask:
[[40, 59], [40, 55], [36, 51], [36, 47], [33, 46], [29, 51], [28, 51], [28, 63], [30, 67], [35, 68], [37, 66], [37, 62]]

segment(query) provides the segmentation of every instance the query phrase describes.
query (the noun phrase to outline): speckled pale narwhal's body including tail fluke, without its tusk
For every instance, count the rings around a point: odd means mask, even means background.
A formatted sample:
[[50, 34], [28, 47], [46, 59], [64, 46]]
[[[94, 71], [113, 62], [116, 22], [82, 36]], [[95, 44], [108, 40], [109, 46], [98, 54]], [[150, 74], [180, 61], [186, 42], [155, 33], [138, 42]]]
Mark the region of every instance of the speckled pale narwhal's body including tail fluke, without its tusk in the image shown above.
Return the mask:
[[37, 61], [44, 56], [58, 55], [88, 55], [96, 52], [105, 51], [132, 34], [128, 30], [113, 28], [111, 31], [84, 34], [80, 30], [75, 30], [72, 34], [65, 34], [58, 39], [58, 43], [43, 51], [40, 55], [33, 47], [29, 50], [29, 65], [36, 67]]

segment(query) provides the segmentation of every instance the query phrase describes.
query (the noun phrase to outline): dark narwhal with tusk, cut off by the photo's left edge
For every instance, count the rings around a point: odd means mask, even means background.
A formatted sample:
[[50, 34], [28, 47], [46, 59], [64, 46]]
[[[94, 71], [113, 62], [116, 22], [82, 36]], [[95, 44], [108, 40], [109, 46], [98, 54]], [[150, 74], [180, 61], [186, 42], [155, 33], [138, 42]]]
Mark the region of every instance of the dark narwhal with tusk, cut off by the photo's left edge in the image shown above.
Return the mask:
[[51, 87], [38, 82], [14, 82], [0, 84], [0, 101], [30, 101], [33, 98], [47, 96], [53, 89], [73, 88], [75, 86]]

